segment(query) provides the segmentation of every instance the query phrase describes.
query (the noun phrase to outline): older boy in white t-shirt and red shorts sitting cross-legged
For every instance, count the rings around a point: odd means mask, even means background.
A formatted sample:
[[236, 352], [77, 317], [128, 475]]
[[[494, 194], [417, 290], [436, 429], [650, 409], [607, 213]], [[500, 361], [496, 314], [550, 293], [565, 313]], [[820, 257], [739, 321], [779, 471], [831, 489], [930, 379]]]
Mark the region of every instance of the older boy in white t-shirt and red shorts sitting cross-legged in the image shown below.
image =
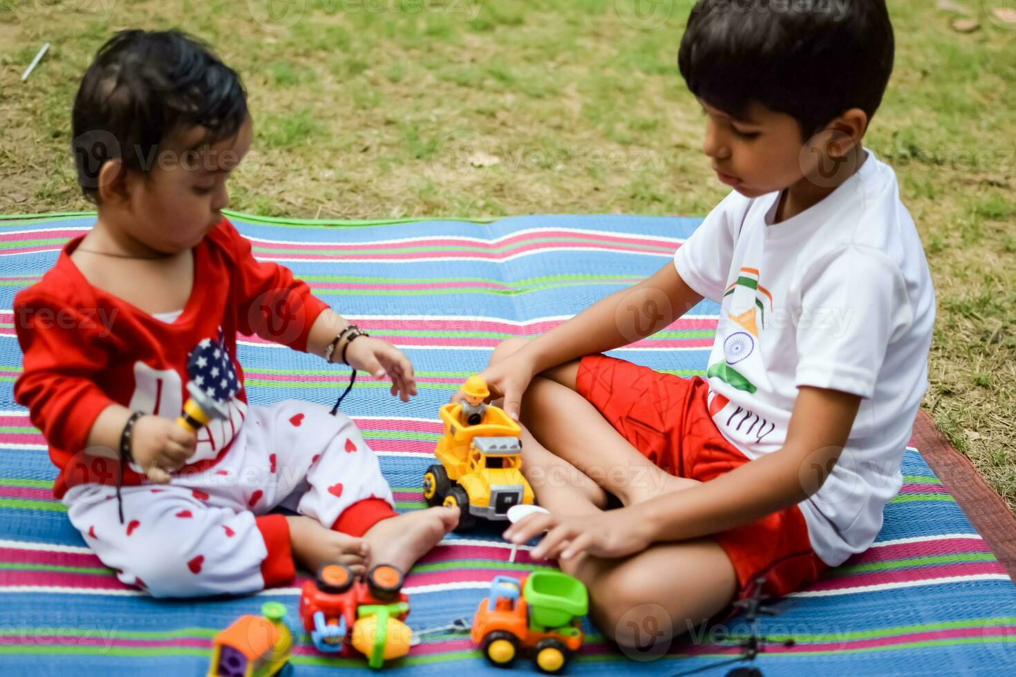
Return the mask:
[[[883, 0], [784, 9], [700, 0], [681, 43], [734, 191], [673, 263], [505, 342], [481, 375], [521, 414], [551, 511], [506, 538], [548, 531], [534, 556], [589, 587], [622, 645], [688, 631], [759, 577], [773, 595], [809, 585], [871, 545], [901, 485], [935, 297], [895, 175], [862, 146], [892, 26]], [[702, 298], [720, 303], [707, 380], [599, 354]]]

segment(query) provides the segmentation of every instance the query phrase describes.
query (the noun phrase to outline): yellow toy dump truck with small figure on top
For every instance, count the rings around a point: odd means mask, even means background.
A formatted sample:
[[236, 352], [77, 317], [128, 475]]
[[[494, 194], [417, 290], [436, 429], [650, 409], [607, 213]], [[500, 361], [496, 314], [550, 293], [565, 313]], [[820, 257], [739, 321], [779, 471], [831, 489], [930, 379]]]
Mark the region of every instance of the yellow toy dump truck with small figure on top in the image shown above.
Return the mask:
[[[488, 392], [479, 377], [466, 381], [468, 393]], [[463, 424], [462, 404], [441, 407], [444, 434], [434, 456], [440, 465], [424, 473], [424, 498], [428, 505], [459, 509], [456, 532], [473, 529], [480, 520], [508, 519], [513, 505], [532, 504], [532, 487], [522, 476], [522, 445], [518, 423], [500, 407], [484, 405], [480, 422]], [[474, 419], [473, 419], [474, 420]]]

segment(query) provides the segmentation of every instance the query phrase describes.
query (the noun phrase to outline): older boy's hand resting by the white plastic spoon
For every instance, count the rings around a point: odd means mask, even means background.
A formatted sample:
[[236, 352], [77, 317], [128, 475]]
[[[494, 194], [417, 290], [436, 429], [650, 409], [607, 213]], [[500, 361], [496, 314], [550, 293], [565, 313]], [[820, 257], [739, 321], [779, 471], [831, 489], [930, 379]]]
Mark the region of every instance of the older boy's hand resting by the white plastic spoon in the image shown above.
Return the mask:
[[548, 532], [530, 553], [538, 559], [571, 559], [583, 553], [597, 557], [624, 557], [641, 552], [652, 542], [644, 520], [634, 507], [598, 515], [572, 517], [547, 513], [530, 515], [505, 530], [504, 537], [522, 544]]

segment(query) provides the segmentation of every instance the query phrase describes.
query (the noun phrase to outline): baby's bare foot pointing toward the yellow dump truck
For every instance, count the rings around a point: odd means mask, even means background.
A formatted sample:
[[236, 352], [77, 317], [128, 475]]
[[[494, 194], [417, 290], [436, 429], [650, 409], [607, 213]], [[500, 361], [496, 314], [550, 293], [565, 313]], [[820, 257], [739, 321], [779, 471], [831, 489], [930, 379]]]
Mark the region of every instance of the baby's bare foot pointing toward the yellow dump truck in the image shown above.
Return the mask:
[[443, 505], [381, 520], [364, 534], [370, 565], [392, 564], [408, 572], [457, 524], [458, 509]]

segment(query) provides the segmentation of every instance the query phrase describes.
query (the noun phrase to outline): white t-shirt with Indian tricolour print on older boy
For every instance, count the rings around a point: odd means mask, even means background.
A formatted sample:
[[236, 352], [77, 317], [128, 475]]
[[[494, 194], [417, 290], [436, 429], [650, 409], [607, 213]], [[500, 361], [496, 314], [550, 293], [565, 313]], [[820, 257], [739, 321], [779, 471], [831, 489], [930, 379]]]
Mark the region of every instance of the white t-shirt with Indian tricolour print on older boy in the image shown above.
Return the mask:
[[928, 386], [935, 292], [896, 176], [870, 150], [831, 195], [774, 224], [778, 198], [732, 192], [674, 263], [721, 304], [709, 411], [745, 456], [782, 447], [800, 386], [864, 398], [831, 475], [799, 503], [812, 547], [835, 566], [868, 549], [902, 485], [900, 459]]

